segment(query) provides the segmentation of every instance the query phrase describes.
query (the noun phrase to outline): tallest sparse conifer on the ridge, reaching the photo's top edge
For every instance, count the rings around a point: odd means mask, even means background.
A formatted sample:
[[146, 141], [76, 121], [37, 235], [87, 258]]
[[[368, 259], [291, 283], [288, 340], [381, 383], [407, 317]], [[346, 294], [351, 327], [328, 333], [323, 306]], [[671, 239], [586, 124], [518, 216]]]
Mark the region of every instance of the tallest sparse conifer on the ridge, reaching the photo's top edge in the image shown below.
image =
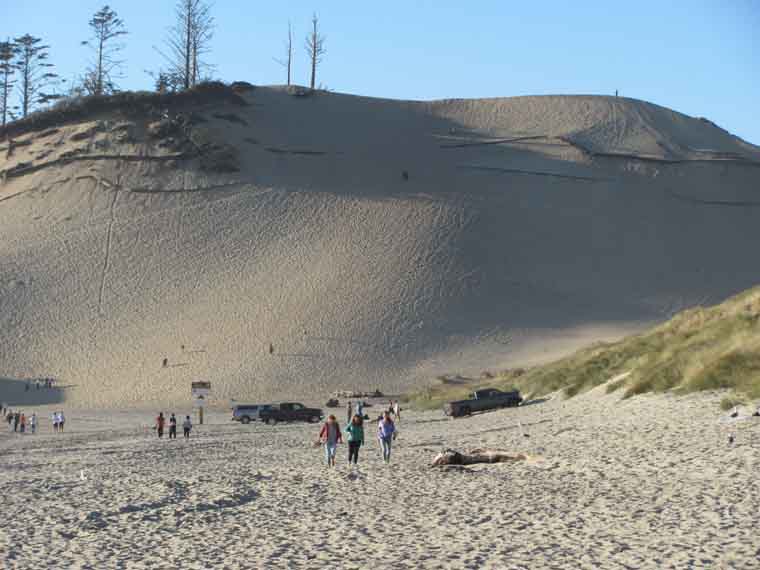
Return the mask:
[[165, 42], [166, 53], [158, 50], [169, 67], [158, 75], [177, 78], [183, 89], [190, 89], [211, 70], [203, 56], [210, 51], [214, 18], [204, 0], [178, 0], [175, 16], [176, 23], [169, 28]]

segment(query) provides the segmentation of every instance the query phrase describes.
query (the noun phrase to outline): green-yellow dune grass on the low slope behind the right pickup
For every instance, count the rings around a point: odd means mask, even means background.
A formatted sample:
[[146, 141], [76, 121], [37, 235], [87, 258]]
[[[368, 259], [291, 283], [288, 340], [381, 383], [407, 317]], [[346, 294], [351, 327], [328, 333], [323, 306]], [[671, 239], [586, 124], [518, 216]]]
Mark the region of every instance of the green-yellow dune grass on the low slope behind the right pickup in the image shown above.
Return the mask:
[[646, 333], [595, 344], [519, 375], [505, 371], [456, 385], [439, 379], [411, 394], [409, 403], [436, 407], [485, 385], [516, 385], [529, 398], [558, 390], [574, 396], [616, 376], [621, 378], [609, 382], [606, 390], [623, 390], [624, 397], [724, 389], [733, 392], [727, 397], [731, 401], [760, 398], [760, 287], [714, 307], [683, 311]]

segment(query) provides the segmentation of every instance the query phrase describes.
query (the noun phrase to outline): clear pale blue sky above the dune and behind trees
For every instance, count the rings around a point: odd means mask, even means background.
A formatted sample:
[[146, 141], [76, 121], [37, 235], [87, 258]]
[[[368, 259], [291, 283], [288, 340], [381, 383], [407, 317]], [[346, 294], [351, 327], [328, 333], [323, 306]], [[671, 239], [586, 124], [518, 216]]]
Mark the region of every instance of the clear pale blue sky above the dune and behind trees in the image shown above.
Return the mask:
[[[0, 0], [0, 37], [51, 45], [71, 79], [102, 0]], [[307, 83], [303, 38], [314, 10], [327, 36], [318, 83], [401, 99], [612, 94], [704, 116], [760, 144], [760, 0], [215, 0], [210, 61], [224, 81], [281, 84], [288, 20], [295, 82]], [[174, 0], [112, 0], [125, 20], [123, 89], [150, 88], [145, 69], [172, 23]]]

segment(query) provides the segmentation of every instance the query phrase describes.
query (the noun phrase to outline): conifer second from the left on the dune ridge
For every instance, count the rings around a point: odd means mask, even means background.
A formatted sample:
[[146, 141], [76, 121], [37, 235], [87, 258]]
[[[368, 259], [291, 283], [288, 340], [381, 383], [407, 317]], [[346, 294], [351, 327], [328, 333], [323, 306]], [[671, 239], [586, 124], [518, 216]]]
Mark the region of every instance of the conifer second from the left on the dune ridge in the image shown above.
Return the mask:
[[59, 95], [44, 90], [58, 80], [58, 75], [50, 71], [48, 62], [50, 46], [41, 44], [40, 38], [25, 34], [15, 38], [17, 46], [14, 67], [19, 74], [19, 95], [21, 96], [21, 116], [26, 117], [37, 105], [44, 105], [59, 98]]

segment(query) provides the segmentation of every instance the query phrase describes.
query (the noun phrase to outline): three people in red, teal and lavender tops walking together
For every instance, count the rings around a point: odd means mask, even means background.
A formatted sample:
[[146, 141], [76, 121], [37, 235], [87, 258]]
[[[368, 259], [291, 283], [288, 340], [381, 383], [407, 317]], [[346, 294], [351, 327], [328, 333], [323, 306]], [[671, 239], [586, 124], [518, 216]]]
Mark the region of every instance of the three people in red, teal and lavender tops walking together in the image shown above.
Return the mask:
[[[348, 443], [348, 464], [357, 465], [359, 463], [359, 449], [364, 445], [363, 415], [356, 413], [351, 416], [345, 434]], [[391, 461], [391, 445], [397, 434], [396, 425], [393, 423], [390, 412], [383, 412], [377, 422], [377, 439], [380, 442], [383, 462], [385, 463]], [[338, 444], [343, 443], [343, 432], [341, 432], [340, 424], [334, 415], [328, 416], [327, 421], [322, 425], [317, 443], [325, 448], [327, 466], [335, 467], [335, 456], [338, 451]]]

